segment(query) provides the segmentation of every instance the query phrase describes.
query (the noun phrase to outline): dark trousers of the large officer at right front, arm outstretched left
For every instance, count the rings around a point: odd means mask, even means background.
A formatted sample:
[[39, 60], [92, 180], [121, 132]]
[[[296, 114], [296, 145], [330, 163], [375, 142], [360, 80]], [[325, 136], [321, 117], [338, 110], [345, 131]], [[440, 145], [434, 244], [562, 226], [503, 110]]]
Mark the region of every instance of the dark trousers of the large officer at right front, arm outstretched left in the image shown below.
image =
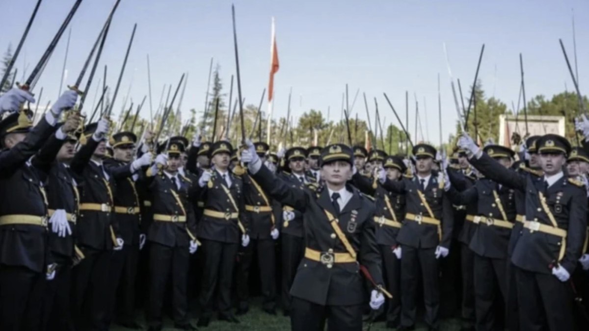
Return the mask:
[[525, 331], [575, 330], [570, 280], [528, 272], [514, 266], [519, 303], [519, 327]]

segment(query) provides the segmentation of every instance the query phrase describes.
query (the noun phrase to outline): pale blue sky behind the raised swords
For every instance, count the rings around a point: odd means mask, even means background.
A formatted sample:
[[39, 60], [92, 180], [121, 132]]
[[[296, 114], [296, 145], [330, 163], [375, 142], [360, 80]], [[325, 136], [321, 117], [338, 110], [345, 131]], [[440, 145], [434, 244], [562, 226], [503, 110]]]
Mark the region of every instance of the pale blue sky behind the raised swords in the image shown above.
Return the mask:
[[[9, 44], [12, 49], [16, 47], [36, 2], [0, 0], [0, 52], [4, 53]], [[64, 85], [74, 83], [114, 2], [84, 0], [80, 5], [70, 24], [70, 51], [65, 66], [68, 75]], [[360, 91], [352, 117], [358, 112], [360, 119], [366, 119], [362, 100], [365, 92], [372, 123], [376, 97], [385, 125], [398, 125], [383, 92], [404, 118], [405, 91], [408, 91], [410, 131], [415, 127], [416, 97], [426, 135], [423, 138], [438, 143], [438, 74], [444, 138], [455, 130], [457, 117], [444, 43], [452, 76], [461, 80], [464, 94], [474, 80], [479, 52], [485, 44], [479, 79], [488, 97], [495, 96], [511, 108], [511, 102], [517, 104], [518, 100], [519, 53], [524, 62], [528, 101], [538, 94], [550, 98], [564, 91], [565, 85], [568, 90], [573, 89], [558, 44], [562, 38], [574, 67], [573, 10], [581, 92], [589, 86], [589, 78], [584, 79], [589, 70], [589, 1], [586, 0], [122, 0], [87, 104], [94, 99], [104, 64], [108, 65], [107, 84], [111, 88], [116, 85], [135, 23], [137, 32], [114, 114], [120, 112], [131, 82], [130, 97], [135, 104], [148, 94], [147, 54], [154, 112], [164, 84], [176, 87], [183, 72], [188, 72], [181, 107], [184, 118], [189, 116], [190, 108], [201, 111], [211, 57], [214, 65], [220, 66], [224, 92], [229, 94], [230, 78], [235, 74], [232, 3], [236, 8], [241, 90], [246, 104], [257, 105], [263, 88], [267, 87], [270, 24], [272, 17], [275, 18], [280, 69], [274, 80], [273, 118], [286, 116], [292, 88], [291, 108], [295, 118], [315, 109], [322, 111], [324, 117], [329, 114], [329, 120], [338, 121], [342, 93], [348, 84], [350, 107], [356, 91]], [[25, 67], [30, 73], [37, 64], [73, 4], [74, 0], [42, 2], [16, 62], [17, 81], [22, 80]], [[67, 34], [33, 91], [38, 95], [41, 87], [44, 88], [43, 105], [57, 100]], [[148, 117], [149, 111], [148, 97], [141, 115]]]

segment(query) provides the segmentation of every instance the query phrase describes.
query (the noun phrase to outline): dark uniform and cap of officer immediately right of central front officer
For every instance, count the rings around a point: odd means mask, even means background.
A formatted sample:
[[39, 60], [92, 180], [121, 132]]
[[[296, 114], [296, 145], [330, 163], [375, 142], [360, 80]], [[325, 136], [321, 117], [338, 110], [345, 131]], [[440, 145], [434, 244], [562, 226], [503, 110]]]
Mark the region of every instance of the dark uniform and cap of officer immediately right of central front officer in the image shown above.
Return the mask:
[[[395, 156], [386, 157], [383, 167], [398, 169], [399, 181], [407, 170], [402, 158]], [[373, 178], [360, 173], [356, 173], [352, 179], [363, 193], [375, 198], [376, 243], [382, 256], [386, 288], [393, 296], [386, 310], [386, 326], [396, 328], [401, 323], [401, 260], [397, 259], [393, 251], [399, 246], [396, 239], [401, 230], [401, 221], [405, 219], [405, 196], [385, 190], [380, 183], [376, 184], [375, 189]]]

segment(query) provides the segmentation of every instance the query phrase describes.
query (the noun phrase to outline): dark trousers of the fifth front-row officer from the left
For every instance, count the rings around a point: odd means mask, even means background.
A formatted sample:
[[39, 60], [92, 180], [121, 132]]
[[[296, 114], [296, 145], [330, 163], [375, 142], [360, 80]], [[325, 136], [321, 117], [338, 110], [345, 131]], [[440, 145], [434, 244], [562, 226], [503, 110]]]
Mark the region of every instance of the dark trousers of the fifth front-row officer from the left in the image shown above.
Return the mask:
[[188, 284], [188, 246], [164, 246], [150, 243], [149, 252], [149, 299], [147, 323], [149, 326], [162, 325], [162, 307], [166, 284], [171, 279], [172, 315], [174, 323], [186, 325], [187, 318], [187, 284]]

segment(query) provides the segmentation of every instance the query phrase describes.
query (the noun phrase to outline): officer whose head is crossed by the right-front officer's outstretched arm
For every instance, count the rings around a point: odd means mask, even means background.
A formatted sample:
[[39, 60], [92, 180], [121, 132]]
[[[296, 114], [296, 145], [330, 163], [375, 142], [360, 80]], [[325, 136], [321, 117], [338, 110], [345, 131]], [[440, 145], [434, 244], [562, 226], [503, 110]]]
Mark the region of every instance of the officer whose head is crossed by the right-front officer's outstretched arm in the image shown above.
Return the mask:
[[[510, 168], [515, 152], [501, 145], [483, 149], [501, 166]], [[477, 214], [468, 215], [474, 225], [469, 248], [474, 255], [474, 289], [477, 330], [496, 330], [504, 323], [499, 316], [507, 298], [507, 246], [515, 222], [514, 190], [481, 178], [461, 193], [449, 190], [457, 204], [477, 203]], [[498, 298], [495, 294], [501, 294]], [[498, 300], [499, 299], [499, 300]]]

